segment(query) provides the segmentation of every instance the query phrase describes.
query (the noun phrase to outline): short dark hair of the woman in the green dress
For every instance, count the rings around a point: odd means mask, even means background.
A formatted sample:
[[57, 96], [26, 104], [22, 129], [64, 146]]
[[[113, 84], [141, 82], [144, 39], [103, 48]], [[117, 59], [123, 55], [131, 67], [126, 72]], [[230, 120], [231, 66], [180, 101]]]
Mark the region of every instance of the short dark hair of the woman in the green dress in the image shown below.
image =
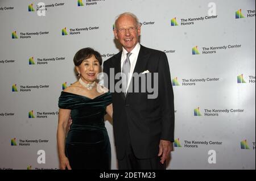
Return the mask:
[[92, 57], [93, 55], [95, 56], [95, 58], [98, 60], [98, 62], [101, 65], [102, 64], [101, 54], [92, 48], [82, 48], [78, 52], [76, 52], [74, 60], [73, 60], [74, 64], [76, 66], [79, 66], [80, 64], [82, 64], [82, 61]]

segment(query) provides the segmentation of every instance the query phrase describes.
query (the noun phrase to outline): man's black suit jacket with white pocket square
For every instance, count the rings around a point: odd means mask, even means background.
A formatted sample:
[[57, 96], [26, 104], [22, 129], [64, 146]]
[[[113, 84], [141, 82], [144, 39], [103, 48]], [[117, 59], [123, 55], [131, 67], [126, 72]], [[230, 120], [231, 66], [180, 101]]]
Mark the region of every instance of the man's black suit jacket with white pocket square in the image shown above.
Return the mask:
[[[113, 80], [113, 74], [110, 77], [111, 68], [114, 68], [114, 74], [121, 72], [121, 56], [122, 51], [104, 62], [104, 73], [108, 74], [108, 79], [105, 79], [108, 85], [105, 86], [110, 91], [114, 88], [110, 87], [110, 82], [116, 85], [121, 80]], [[118, 159], [125, 155], [127, 136], [130, 136], [130, 144], [139, 159], [156, 157], [160, 140], [174, 142], [174, 93], [166, 54], [141, 45], [134, 73], [140, 74], [145, 70], [158, 73], [157, 98], [148, 99], [148, 95], [152, 93], [141, 90], [128, 92], [126, 96], [123, 92], [112, 92], [113, 131]], [[148, 74], [145, 76], [148, 81]], [[153, 87], [153, 75], [151, 78]], [[139, 81], [141, 83], [142, 79]]]

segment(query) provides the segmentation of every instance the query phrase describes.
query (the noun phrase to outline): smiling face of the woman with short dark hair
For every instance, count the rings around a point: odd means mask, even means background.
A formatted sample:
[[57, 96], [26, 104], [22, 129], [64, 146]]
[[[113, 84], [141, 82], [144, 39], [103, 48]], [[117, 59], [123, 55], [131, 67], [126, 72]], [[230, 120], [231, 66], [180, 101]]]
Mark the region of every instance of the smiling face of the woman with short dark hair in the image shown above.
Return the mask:
[[95, 81], [98, 73], [100, 73], [100, 69], [100, 62], [98, 62], [94, 55], [82, 61], [79, 66], [76, 66], [77, 72], [80, 73], [80, 77], [85, 83]]

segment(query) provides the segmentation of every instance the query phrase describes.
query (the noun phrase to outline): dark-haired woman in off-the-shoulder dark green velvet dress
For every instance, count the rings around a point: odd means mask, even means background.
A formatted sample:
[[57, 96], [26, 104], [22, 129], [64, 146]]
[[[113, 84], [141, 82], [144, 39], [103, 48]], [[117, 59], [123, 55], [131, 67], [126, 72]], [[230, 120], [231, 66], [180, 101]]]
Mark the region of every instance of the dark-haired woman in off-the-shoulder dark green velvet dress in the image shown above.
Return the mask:
[[[101, 55], [92, 48], [83, 48], [73, 61], [79, 81], [62, 91], [59, 98], [60, 169], [110, 169], [111, 149], [104, 116], [107, 112], [112, 117], [113, 108], [110, 92], [97, 91]], [[65, 138], [69, 115], [72, 124]]]

